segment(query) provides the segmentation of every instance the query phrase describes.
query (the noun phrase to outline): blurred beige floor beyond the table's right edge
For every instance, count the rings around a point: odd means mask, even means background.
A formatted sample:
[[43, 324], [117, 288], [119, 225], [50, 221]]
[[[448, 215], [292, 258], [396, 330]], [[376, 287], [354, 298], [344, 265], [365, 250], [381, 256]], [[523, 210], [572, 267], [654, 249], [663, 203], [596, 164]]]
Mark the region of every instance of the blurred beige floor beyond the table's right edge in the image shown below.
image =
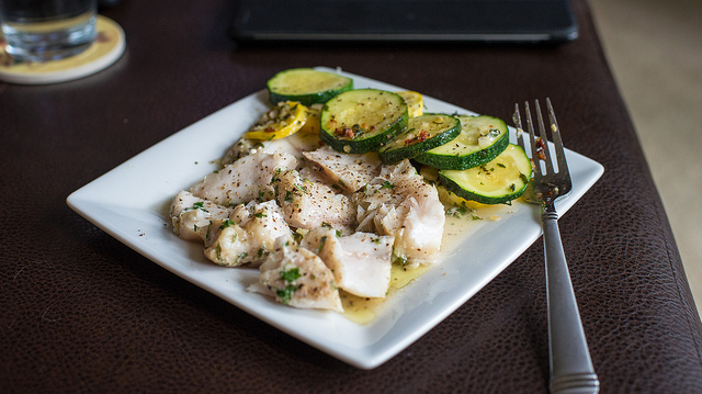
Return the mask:
[[702, 312], [702, 1], [589, 1]]

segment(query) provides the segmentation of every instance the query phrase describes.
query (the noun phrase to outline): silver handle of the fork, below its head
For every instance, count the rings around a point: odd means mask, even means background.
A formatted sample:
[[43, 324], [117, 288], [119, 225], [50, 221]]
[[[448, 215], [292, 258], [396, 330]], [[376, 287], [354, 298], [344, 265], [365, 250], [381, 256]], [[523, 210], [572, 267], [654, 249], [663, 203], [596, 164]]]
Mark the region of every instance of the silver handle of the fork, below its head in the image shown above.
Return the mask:
[[553, 204], [546, 204], [542, 221], [548, 304], [550, 390], [552, 393], [598, 393], [600, 381], [585, 339], [561, 241], [558, 214]]

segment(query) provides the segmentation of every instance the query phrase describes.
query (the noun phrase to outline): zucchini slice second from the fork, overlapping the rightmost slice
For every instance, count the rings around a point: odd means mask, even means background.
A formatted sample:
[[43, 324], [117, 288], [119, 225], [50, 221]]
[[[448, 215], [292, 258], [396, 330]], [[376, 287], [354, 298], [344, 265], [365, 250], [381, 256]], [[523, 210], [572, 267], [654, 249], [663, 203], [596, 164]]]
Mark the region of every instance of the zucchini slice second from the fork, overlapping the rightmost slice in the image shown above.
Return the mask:
[[461, 135], [415, 159], [442, 170], [465, 170], [495, 159], [507, 148], [509, 132], [505, 121], [487, 116], [457, 115]]

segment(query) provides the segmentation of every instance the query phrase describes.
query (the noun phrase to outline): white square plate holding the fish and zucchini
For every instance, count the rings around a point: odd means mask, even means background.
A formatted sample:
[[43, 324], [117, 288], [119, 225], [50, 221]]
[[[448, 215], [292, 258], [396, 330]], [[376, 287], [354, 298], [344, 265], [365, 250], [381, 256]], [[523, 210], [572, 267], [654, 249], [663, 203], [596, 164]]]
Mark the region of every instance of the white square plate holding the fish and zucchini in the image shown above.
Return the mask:
[[[355, 88], [404, 90], [348, 72]], [[467, 113], [424, 97], [428, 112]], [[248, 292], [257, 269], [218, 267], [202, 254], [202, 245], [178, 238], [168, 207], [217, 169], [214, 160], [269, 108], [259, 91], [173, 134], [68, 196], [68, 205], [128, 247], [183, 279], [216, 294], [263, 322], [351, 365], [372, 369], [399, 353], [465, 303], [507, 268], [541, 235], [539, 209], [516, 201], [500, 221], [484, 221], [452, 252], [421, 278], [393, 294], [369, 325], [343, 315], [283, 306]], [[514, 131], [511, 138], [514, 142]], [[600, 178], [600, 164], [566, 153], [571, 193], [557, 206], [565, 213]], [[449, 223], [449, 221], [446, 221]], [[496, 236], [498, 235], [499, 236]]]

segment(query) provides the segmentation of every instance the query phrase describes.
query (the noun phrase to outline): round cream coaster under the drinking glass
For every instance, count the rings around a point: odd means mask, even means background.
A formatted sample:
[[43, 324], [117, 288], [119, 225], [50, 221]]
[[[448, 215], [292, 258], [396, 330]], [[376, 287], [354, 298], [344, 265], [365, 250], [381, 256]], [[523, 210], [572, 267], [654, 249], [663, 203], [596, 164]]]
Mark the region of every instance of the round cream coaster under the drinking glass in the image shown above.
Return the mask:
[[95, 41], [88, 49], [60, 60], [18, 61], [4, 52], [4, 45], [0, 45], [0, 80], [46, 85], [71, 81], [102, 71], [117, 61], [126, 45], [124, 31], [115, 21], [98, 15], [95, 29]]

